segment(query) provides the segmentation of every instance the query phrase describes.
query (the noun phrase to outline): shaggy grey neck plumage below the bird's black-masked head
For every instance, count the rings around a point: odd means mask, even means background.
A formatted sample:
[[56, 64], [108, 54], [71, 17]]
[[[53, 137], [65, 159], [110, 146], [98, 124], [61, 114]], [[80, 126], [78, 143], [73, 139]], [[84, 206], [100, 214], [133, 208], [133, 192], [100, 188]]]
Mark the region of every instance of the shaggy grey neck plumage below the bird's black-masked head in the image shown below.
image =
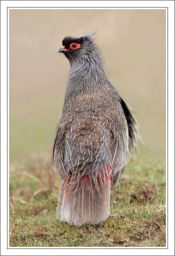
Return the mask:
[[70, 61], [71, 69], [65, 94], [65, 104], [79, 94], [93, 92], [105, 78], [104, 63], [98, 53]]

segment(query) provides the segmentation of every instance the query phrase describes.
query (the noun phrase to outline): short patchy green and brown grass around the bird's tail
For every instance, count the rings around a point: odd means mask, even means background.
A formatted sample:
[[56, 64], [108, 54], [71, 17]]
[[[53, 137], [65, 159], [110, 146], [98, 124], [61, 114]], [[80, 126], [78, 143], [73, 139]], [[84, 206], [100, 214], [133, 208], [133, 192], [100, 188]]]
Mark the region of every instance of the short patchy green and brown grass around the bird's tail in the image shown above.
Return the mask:
[[10, 165], [10, 246], [166, 246], [165, 166], [131, 162], [111, 191], [110, 212], [97, 225], [55, 218], [60, 178], [47, 155]]

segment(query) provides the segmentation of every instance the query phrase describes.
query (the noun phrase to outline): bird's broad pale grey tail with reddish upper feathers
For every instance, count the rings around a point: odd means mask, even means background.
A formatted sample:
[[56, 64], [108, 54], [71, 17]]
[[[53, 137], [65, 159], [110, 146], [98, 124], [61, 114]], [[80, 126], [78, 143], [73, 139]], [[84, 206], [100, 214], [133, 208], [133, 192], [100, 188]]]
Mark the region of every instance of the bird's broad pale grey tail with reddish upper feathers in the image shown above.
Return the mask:
[[92, 175], [72, 174], [62, 180], [57, 217], [71, 225], [97, 224], [109, 217], [110, 171]]

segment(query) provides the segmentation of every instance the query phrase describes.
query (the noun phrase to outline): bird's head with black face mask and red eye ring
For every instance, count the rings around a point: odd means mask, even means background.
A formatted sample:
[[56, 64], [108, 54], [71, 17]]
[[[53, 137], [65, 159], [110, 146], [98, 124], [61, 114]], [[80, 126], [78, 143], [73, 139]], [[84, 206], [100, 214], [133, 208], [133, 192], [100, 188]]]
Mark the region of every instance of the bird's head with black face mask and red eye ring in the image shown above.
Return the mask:
[[94, 42], [94, 35], [79, 37], [67, 36], [62, 40], [58, 53], [64, 53], [70, 62], [88, 60], [94, 53], [100, 54]]

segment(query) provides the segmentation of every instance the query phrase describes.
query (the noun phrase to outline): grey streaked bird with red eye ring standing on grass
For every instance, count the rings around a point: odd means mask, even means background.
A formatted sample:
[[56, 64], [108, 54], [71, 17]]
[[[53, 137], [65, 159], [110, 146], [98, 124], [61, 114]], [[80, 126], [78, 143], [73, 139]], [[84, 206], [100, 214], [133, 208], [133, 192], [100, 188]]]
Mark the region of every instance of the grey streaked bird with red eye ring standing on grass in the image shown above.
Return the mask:
[[70, 62], [53, 145], [61, 176], [56, 216], [70, 225], [109, 217], [110, 190], [141, 140], [139, 123], [105, 74], [94, 34], [66, 36], [58, 53]]

